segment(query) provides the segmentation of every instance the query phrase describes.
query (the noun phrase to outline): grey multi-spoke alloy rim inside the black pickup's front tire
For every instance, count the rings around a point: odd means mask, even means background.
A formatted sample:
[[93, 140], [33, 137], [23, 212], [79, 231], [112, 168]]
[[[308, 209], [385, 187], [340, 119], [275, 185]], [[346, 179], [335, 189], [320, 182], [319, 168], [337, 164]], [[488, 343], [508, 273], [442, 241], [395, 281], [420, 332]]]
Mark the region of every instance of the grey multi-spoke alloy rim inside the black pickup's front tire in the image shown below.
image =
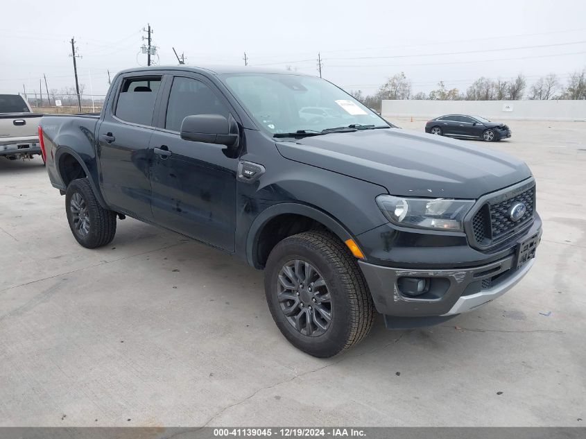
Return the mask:
[[318, 270], [295, 259], [282, 266], [277, 279], [277, 299], [287, 321], [304, 336], [325, 334], [331, 325], [331, 296]]

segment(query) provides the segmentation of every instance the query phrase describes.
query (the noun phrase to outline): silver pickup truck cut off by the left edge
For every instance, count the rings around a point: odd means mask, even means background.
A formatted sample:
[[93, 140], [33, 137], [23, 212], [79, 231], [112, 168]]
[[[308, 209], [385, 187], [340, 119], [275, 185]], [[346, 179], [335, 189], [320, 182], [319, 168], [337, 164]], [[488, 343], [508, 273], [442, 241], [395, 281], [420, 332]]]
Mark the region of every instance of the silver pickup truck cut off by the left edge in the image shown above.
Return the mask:
[[38, 134], [42, 116], [33, 113], [22, 96], [0, 94], [0, 156], [9, 160], [42, 156]]

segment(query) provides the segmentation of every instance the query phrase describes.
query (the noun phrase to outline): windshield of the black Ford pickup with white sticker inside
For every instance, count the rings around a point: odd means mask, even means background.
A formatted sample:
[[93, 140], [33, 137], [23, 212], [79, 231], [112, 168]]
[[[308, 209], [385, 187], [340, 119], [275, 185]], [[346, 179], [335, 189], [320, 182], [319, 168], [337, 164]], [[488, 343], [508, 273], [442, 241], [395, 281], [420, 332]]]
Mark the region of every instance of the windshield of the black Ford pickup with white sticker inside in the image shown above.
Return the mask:
[[248, 114], [273, 135], [347, 126], [390, 125], [335, 85], [313, 76], [225, 75]]

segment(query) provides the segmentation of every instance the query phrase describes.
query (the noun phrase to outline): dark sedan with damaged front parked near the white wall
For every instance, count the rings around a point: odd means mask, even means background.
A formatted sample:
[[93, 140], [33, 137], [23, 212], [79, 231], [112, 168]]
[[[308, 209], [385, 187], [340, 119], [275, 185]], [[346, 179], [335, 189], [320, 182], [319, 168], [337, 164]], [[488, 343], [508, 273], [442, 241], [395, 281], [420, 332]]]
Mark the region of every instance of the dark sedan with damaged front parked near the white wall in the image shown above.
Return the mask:
[[436, 117], [425, 124], [425, 132], [438, 136], [461, 137], [499, 141], [510, 137], [511, 132], [504, 123], [491, 122], [480, 116], [447, 114]]

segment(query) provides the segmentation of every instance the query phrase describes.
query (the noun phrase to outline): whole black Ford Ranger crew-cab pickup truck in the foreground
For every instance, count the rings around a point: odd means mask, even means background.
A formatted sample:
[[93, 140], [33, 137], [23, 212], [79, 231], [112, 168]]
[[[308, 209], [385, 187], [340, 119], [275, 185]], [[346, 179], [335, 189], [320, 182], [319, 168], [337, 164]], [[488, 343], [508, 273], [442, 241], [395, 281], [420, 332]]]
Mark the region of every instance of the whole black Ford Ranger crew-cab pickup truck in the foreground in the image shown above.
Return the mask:
[[130, 69], [99, 117], [40, 127], [78, 243], [105, 246], [131, 216], [234, 253], [314, 356], [361, 341], [375, 310], [406, 328], [490, 302], [541, 237], [524, 162], [395, 128], [313, 76]]

